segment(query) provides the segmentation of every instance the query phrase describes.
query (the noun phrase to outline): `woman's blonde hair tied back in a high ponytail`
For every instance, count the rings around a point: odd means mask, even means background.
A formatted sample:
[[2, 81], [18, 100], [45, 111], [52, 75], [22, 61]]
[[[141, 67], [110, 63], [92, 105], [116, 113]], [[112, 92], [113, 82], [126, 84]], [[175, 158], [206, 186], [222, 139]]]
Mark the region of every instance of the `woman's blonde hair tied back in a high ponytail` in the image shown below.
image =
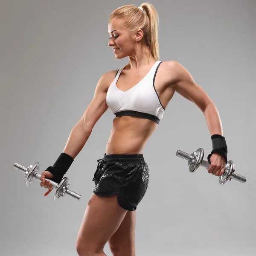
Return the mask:
[[159, 60], [159, 46], [158, 46], [158, 23], [159, 17], [157, 10], [150, 3], [143, 3], [140, 5], [144, 12], [134, 5], [125, 5], [114, 10], [109, 16], [108, 22], [113, 18], [120, 18], [132, 34], [137, 30], [142, 29], [144, 36], [143, 42], [148, 47], [148, 62], [150, 62], [150, 53], [154, 58]]

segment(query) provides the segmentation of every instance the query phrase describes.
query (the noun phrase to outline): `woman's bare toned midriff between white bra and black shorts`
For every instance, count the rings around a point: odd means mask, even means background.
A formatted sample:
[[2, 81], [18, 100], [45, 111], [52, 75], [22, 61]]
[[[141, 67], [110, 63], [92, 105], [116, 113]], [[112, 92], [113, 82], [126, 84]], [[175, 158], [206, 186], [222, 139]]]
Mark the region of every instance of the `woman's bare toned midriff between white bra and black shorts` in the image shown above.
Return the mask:
[[113, 127], [106, 145], [106, 154], [142, 154], [143, 148], [157, 123], [136, 116], [113, 119]]

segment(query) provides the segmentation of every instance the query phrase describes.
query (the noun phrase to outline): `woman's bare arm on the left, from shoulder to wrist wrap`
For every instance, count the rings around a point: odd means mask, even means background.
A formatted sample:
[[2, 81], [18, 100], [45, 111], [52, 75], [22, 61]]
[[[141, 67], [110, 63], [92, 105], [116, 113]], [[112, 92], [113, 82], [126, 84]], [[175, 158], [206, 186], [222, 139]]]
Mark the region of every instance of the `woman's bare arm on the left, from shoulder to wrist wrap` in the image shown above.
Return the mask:
[[113, 76], [111, 76], [111, 72], [108, 72], [99, 79], [92, 101], [84, 111], [79, 122], [70, 132], [63, 153], [70, 155], [73, 159], [84, 147], [96, 122], [108, 109], [106, 95], [111, 78]]

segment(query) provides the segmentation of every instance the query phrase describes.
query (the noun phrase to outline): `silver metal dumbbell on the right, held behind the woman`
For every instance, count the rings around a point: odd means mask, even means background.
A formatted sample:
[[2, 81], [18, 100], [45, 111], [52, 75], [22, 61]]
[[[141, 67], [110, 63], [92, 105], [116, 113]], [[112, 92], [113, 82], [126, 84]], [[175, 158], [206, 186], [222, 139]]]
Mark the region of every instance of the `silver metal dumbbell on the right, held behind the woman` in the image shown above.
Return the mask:
[[[204, 159], [204, 149], [198, 148], [197, 151], [194, 151], [192, 154], [177, 150], [176, 156], [188, 160], [189, 163], [189, 172], [195, 172], [199, 166], [203, 166], [206, 169], [210, 167], [210, 163]], [[233, 161], [227, 161], [224, 174], [219, 176], [219, 183], [221, 185], [226, 184], [231, 179], [237, 180], [241, 183], [245, 183], [247, 178], [235, 173], [235, 166]]]

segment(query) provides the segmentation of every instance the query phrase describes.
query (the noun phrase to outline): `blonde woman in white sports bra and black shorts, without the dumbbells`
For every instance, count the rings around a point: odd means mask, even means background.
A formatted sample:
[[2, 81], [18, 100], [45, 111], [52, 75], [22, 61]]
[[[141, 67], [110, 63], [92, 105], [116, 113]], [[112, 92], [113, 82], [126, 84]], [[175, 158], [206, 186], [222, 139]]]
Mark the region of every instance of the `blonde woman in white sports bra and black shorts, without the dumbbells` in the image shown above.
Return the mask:
[[116, 117], [106, 154], [98, 160], [93, 177], [96, 187], [77, 237], [80, 256], [106, 255], [107, 242], [114, 256], [135, 255], [135, 210], [149, 180], [142, 152], [175, 91], [204, 113], [213, 143], [208, 172], [216, 176], [224, 172], [227, 145], [218, 110], [181, 64], [159, 61], [157, 25], [157, 11], [148, 3], [139, 8], [122, 6], [111, 13], [108, 45], [117, 59], [128, 57], [129, 63], [99, 79], [93, 100], [72, 129], [64, 151], [42, 173], [41, 186], [48, 195], [52, 185], [45, 177], [59, 182], [102, 114], [108, 108], [113, 111]]

